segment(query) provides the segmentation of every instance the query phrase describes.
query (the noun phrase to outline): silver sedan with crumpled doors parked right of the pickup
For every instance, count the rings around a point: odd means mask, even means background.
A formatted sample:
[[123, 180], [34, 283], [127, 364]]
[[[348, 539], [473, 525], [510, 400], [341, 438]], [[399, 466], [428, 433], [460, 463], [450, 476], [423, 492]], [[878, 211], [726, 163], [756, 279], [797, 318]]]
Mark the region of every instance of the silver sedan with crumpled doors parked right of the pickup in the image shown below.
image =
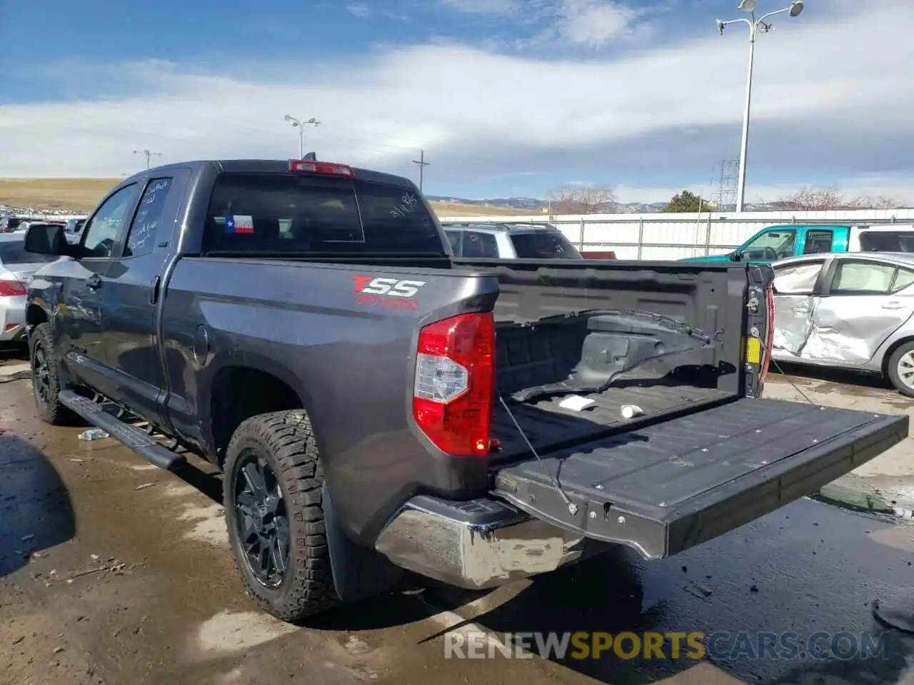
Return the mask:
[[812, 254], [772, 266], [775, 360], [883, 374], [914, 397], [914, 254]]

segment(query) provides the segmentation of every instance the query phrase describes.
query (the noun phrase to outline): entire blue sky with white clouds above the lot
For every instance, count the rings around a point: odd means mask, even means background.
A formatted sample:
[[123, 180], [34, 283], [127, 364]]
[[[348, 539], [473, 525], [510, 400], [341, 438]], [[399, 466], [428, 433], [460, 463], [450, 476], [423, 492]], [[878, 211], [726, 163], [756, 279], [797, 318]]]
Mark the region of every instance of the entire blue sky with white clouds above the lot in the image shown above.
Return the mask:
[[[788, 0], [759, 0], [762, 11]], [[716, 191], [739, 156], [735, 0], [2, 2], [0, 176], [307, 149], [427, 193]], [[914, 202], [914, 4], [807, 0], [757, 43], [749, 199], [806, 184]], [[39, 31], [39, 49], [24, 38]]]

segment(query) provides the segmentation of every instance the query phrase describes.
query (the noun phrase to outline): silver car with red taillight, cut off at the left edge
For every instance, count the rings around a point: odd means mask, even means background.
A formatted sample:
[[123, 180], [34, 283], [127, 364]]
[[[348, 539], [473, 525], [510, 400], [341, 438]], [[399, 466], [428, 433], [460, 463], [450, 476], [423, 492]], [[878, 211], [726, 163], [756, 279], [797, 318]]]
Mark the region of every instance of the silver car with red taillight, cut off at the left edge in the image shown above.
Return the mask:
[[56, 257], [26, 252], [26, 234], [0, 234], [0, 342], [18, 342], [26, 332], [28, 279]]

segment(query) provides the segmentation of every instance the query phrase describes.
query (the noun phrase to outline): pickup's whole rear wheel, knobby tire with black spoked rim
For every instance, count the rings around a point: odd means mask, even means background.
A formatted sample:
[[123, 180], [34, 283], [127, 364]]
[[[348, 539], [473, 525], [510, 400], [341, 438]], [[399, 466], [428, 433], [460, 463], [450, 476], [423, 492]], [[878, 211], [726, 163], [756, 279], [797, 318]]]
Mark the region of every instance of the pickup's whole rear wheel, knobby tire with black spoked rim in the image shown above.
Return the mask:
[[228, 444], [223, 489], [235, 563], [254, 600], [284, 621], [339, 601], [323, 485], [317, 443], [303, 411], [252, 416]]

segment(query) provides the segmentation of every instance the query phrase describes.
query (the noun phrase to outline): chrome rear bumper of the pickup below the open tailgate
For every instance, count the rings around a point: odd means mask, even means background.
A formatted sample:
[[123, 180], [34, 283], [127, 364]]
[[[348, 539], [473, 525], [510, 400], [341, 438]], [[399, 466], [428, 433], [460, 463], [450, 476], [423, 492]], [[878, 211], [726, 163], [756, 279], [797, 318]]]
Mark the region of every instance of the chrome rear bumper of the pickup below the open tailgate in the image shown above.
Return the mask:
[[529, 518], [501, 502], [496, 521], [473, 522], [407, 502], [377, 538], [375, 549], [401, 568], [442, 583], [482, 590], [578, 561], [587, 541]]

